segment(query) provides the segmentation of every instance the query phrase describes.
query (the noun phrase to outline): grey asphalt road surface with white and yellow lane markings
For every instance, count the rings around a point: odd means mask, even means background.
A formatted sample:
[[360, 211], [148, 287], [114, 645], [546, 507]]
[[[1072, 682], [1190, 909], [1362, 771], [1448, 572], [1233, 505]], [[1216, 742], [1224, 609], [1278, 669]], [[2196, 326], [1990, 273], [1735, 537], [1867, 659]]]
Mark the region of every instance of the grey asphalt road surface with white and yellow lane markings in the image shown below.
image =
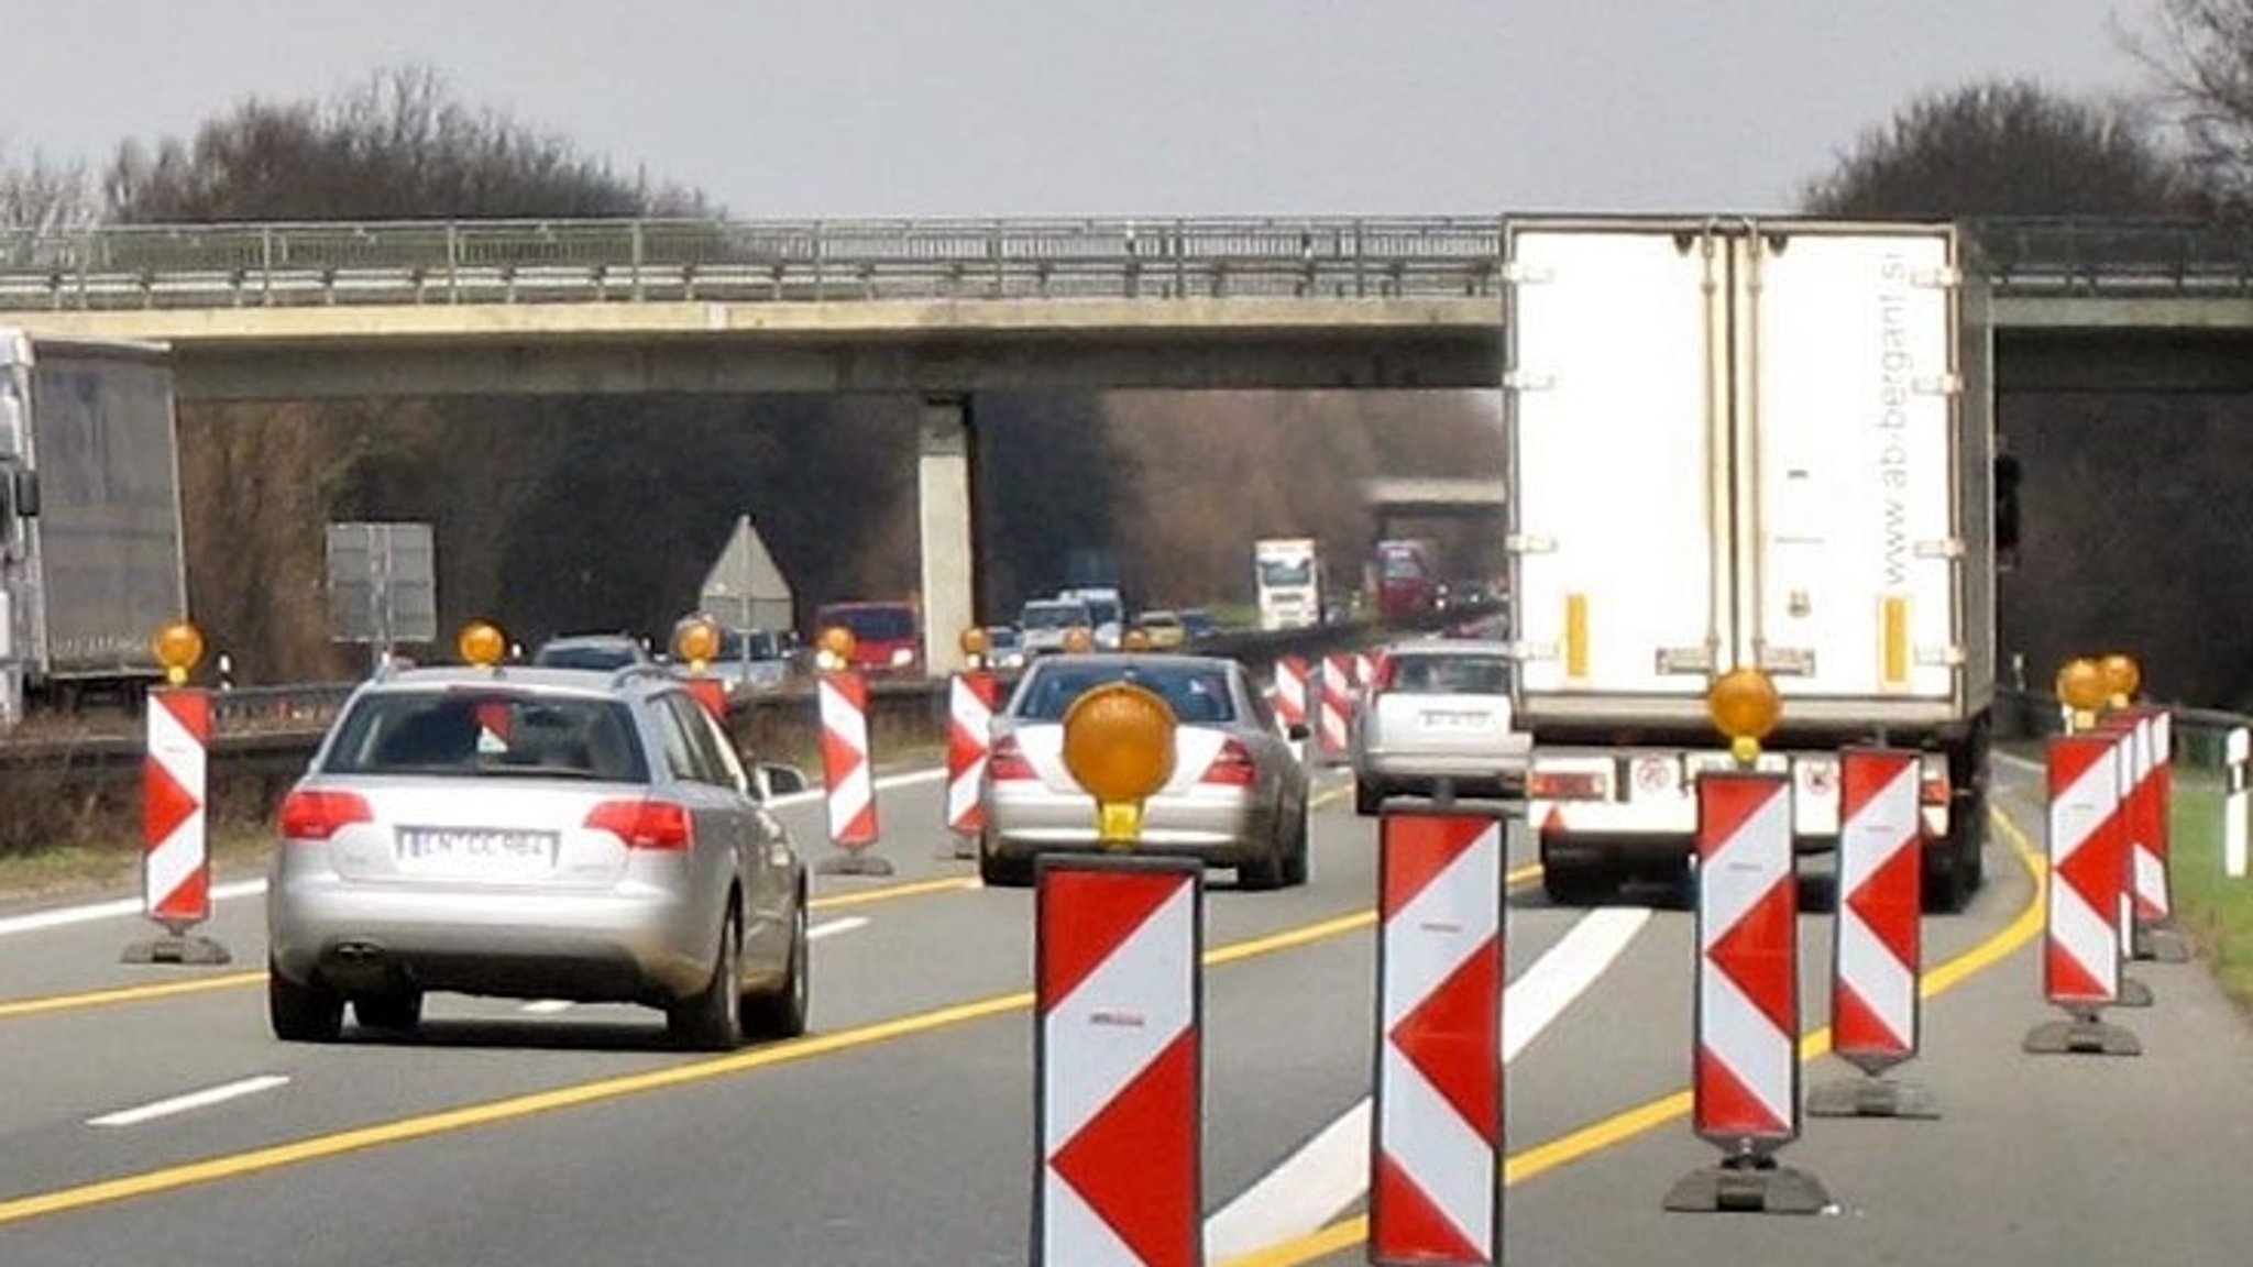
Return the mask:
[[[1512, 841], [1507, 1262], [2246, 1260], [2253, 1028], [2197, 965], [2134, 965], [2140, 1057], [2032, 1057], [2034, 782], [1965, 915], [1926, 922], [1938, 1120], [1809, 1118], [1823, 1215], [1669, 1213], [1690, 1132], [1692, 915], [1552, 909]], [[1208, 1262], [1365, 1262], [1374, 841], [1338, 780], [1307, 888], [1205, 893]], [[786, 818], [822, 857], [818, 805]], [[435, 996], [412, 1037], [266, 1030], [255, 881], [225, 967], [122, 965], [135, 904], [0, 913], [0, 1262], [1023, 1265], [1034, 1175], [1027, 891], [985, 891], [935, 778], [881, 796], [892, 877], [816, 881], [813, 1033], [667, 1048], [638, 1008]], [[1820, 884], [1809, 884], [1818, 891]], [[1818, 893], [1809, 893], [1818, 897]], [[1805, 1028], [1829, 915], [1800, 918]], [[1809, 1087], [1850, 1078], [1816, 1053]]]

